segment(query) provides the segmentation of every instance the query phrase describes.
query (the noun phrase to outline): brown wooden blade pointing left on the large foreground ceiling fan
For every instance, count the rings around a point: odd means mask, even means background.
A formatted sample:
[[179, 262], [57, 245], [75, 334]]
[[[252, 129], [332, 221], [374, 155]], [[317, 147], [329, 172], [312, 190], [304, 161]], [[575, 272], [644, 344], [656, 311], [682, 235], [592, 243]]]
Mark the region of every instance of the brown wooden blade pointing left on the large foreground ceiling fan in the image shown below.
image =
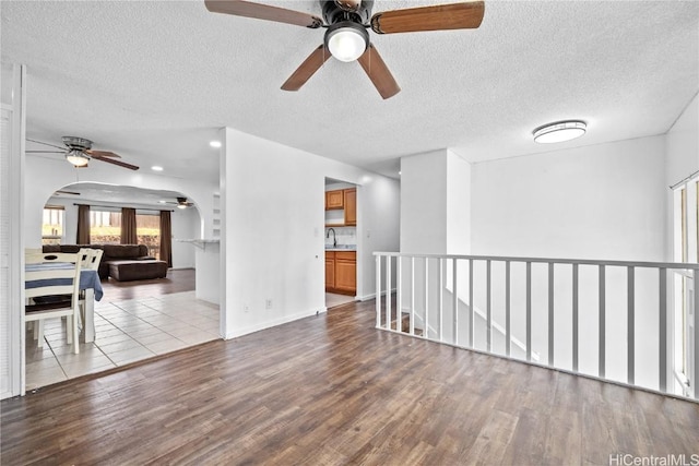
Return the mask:
[[295, 24], [312, 29], [322, 26], [323, 21], [312, 14], [254, 3], [242, 0], [204, 0], [206, 10], [212, 13], [233, 14], [235, 16], [254, 17], [258, 20], [275, 21], [277, 23]]

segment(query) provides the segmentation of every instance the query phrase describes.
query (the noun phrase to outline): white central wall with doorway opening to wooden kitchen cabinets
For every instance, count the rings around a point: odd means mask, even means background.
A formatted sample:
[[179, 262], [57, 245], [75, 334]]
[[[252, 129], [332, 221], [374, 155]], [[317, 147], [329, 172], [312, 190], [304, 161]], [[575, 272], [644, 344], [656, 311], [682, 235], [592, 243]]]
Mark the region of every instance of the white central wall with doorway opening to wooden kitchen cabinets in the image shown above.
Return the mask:
[[357, 295], [370, 296], [372, 251], [398, 248], [398, 182], [236, 130], [223, 136], [225, 336], [324, 311], [325, 177], [357, 184]]

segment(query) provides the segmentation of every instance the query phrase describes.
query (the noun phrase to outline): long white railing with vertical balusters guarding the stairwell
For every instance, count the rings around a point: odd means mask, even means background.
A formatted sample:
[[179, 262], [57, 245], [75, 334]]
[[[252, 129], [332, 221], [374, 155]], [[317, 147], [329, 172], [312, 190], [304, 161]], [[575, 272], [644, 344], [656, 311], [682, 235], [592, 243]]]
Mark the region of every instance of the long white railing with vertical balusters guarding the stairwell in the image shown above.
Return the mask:
[[[699, 264], [375, 256], [377, 328], [699, 399], [694, 380], [682, 391], [673, 377], [667, 273], [697, 283]], [[699, 292], [686, 298], [685, 350], [694, 375], [699, 374]]]

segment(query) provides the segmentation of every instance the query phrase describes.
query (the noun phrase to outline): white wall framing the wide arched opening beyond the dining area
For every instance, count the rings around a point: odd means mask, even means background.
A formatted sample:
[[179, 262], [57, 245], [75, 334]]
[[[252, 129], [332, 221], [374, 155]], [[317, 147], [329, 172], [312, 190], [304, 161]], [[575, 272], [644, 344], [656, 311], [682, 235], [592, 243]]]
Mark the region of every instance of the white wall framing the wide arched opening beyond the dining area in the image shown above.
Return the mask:
[[[51, 198], [56, 190], [78, 181], [104, 182], [186, 193], [199, 207], [205, 227], [205, 238], [211, 238], [213, 193], [218, 191], [217, 184], [151, 175], [145, 170], [132, 171], [99, 163], [91, 164], [87, 169], [75, 169], [62, 157], [27, 156], [26, 180], [24, 183], [24, 231], [25, 246], [27, 248], [38, 248], [42, 244], [42, 212], [47, 200]], [[73, 202], [75, 201], [69, 200], [71, 208], [73, 208]], [[72, 229], [68, 230], [67, 241], [74, 242], [75, 230], [70, 224], [69, 228]], [[173, 228], [175, 228], [175, 220], [173, 222]], [[201, 236], [199, 230], [192, 234], [194, 236], [189, 238], [200, 238]], [[191, 248], [191, 246], [189, 247]], [[193, 260], [188, 263], [193, 264]]]

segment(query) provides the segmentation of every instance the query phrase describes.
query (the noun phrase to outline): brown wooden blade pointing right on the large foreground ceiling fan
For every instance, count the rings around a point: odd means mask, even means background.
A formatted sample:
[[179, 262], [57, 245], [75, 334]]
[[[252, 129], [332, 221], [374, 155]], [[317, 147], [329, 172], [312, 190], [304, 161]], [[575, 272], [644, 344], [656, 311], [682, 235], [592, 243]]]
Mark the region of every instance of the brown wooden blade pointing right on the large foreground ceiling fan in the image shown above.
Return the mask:
[[371, 16], [371, 29], [377, 34], [473, 29], [481, 25], [484, 12], [483, 1], [384, 11]]

